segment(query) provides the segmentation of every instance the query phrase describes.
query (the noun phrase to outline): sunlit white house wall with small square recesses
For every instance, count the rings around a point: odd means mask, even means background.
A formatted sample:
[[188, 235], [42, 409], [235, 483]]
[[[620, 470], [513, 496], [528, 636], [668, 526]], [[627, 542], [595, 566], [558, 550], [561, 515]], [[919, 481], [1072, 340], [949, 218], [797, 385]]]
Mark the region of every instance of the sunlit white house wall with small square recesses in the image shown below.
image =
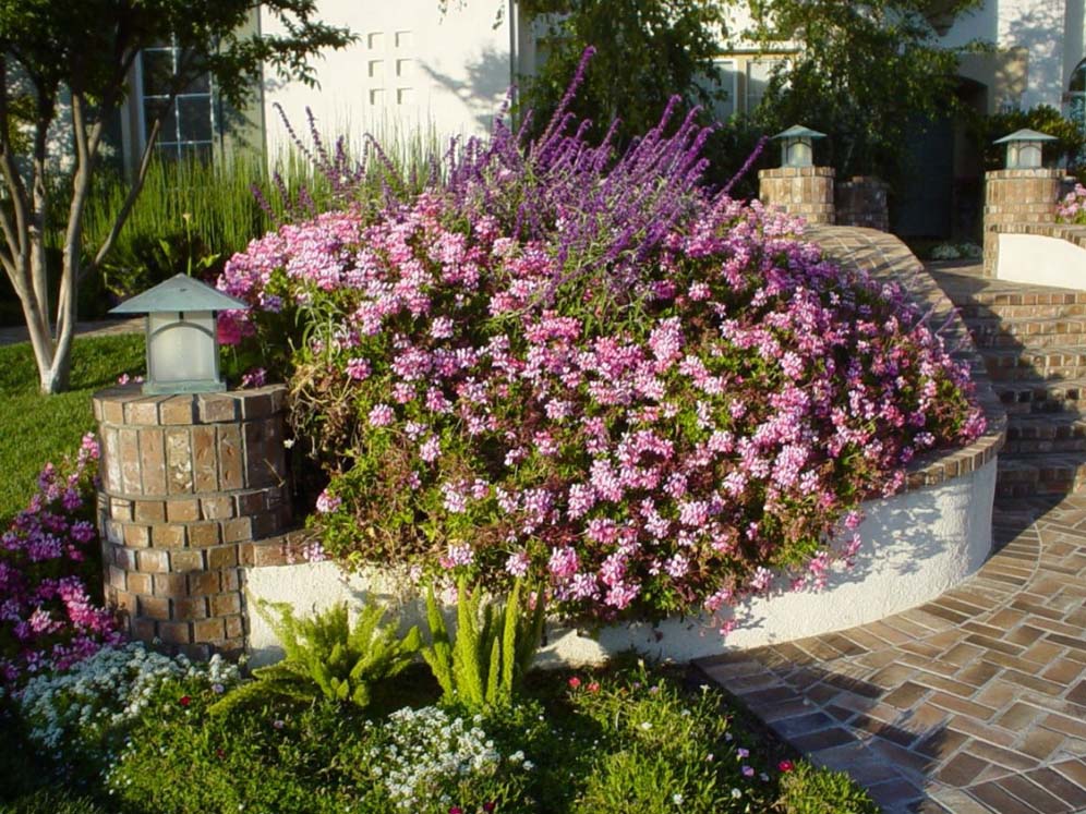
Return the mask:
[[[450, 0], [443, 16], [436, 0], [321, 0], [321, 17], [347, 26], [359, 41], [315, 61], [319, 88], [265, 83], [270, 156], [287, 143], [273, 105], [282, 106], [295, 130], [305, 108], [322, 133], [358, 142], [363, 132], [410, 134], [434, 125], [439, 135], [486, 133], [512, 80], [507, 3]], [[462, 8], [461, 8], [462, 7]], [[280, 33], [266, 15], [265, 33]]]

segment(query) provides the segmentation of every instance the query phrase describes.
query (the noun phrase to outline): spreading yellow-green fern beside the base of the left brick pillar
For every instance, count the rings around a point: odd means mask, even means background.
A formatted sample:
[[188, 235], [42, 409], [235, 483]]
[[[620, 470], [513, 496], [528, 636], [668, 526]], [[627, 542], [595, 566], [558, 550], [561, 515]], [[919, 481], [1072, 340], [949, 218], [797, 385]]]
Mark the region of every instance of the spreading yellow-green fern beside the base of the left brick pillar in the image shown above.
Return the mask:
[[383, 624], [385, 610], [379, 605], [363, 608], [353, 628], [347, 603], [312, 619], [295, 618], [285, 603], [258, 602], [256, 609], [279, 637], [286, 656], [254, 670], [256, 681], [227, 694], [212, 707], [215, 714], [274, 697], [297, 702], [325, 697], [364, 708], [373, 700], [373, 685], [401, 672], [420, 645], [417, 627], [400, 637], [397, 620]]

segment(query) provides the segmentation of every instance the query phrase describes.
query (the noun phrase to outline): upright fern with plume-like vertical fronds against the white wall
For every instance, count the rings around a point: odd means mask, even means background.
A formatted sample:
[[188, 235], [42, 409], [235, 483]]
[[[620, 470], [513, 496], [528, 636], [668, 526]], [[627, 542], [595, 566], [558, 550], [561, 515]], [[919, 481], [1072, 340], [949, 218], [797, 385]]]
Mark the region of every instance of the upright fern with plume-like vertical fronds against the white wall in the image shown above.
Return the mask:
[[545, 607], [542, 595], [534, 609], [521, 607], [517, 580], [504, 605], [483, 603], [482, 587], [469, 591], [467, 579], [457, 582], [456, 641], [449, 635], [434, 590], [426, 593], [426, 621], [431, 643], [422, 648], [441, 684], [444, 700], [472, 709], [512, 703], [543, 635]]

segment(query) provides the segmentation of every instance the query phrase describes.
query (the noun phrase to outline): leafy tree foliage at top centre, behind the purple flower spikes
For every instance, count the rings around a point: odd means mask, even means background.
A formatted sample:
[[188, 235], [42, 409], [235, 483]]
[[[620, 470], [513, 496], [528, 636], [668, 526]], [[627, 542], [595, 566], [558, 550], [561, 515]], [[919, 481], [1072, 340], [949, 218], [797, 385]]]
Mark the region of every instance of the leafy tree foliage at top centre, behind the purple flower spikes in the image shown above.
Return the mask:
[[[596, 49], [570, 110], [602, 136], [620, 120], [619, 144], [647, 132], [674, 94], [712, 105], [723, 97], [713, 57], [724, 33], [713, 0], [528, 0], [520, 4], [545, 34], [535, 75], [523, 77], [523, 107], [542, 127], [569, 86], [581, 53]], [[744, 157], [740, 157], [741, 161]]]

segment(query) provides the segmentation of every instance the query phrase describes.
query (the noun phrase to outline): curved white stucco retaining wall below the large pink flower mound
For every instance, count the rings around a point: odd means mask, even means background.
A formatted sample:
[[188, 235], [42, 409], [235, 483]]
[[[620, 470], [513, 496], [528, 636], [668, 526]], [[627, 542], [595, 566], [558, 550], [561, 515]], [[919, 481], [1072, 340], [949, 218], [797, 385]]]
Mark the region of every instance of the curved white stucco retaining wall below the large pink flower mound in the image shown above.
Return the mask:
[[[671, 619], [657, 625], [606, 628], [598, 637], [553, 628], [540, 663], [600, 661], [629, 647], [659, 658], [685, 661], [727, 649], [746, 649], [844, 630], [921, 605], [961, 583], [985, 561], [991, 547], [996, 460], [980, 470], [936, 486], [865, 505], [859, 532], [864, 546], [852, 571], [835, 573], [819, 593], [759, 598], [743, 608], [743, 622], [722, 640], [699, 619]], [[421, 608], [406, 580], [379, 572], [345, 576], [330, 562], [251, 568], [251, 597], [286, 602], [299, 612], [343, 599], [371, 597], [393, 604], [410, 624]], [[251, 613], [250, 651], [255, 664], [277, 655], [273, 632]]]

